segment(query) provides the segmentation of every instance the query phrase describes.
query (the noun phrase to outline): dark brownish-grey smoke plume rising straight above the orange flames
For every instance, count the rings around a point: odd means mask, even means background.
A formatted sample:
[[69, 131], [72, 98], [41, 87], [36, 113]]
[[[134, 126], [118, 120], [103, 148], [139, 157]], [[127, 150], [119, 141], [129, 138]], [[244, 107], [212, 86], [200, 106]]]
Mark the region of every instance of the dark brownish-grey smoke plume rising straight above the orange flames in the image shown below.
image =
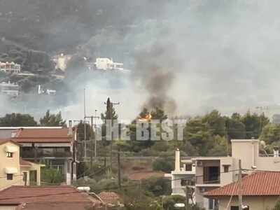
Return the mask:
[[169, 90], [175, 81], [179, 62], [172, 53], [172, 45], [155, 43], [135, 55], [136, 64], [132, 78], [144, 85], [148, 99], [143, 106], [147, 109], [158, 107], [167, 113], [176, 111], [176, 102], [169, 96]]

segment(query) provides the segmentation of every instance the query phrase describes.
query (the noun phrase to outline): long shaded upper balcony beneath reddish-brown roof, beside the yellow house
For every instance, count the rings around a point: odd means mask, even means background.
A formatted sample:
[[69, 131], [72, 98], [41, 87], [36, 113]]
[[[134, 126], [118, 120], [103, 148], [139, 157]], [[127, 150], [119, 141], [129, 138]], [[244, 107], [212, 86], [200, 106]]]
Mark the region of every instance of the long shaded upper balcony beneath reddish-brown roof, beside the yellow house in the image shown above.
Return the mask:
[[69, 148], [37, 148], [36, 155], [34, 148], [22, 148], [20, 156], [24, 159], [43, 158], [71, 158]]

